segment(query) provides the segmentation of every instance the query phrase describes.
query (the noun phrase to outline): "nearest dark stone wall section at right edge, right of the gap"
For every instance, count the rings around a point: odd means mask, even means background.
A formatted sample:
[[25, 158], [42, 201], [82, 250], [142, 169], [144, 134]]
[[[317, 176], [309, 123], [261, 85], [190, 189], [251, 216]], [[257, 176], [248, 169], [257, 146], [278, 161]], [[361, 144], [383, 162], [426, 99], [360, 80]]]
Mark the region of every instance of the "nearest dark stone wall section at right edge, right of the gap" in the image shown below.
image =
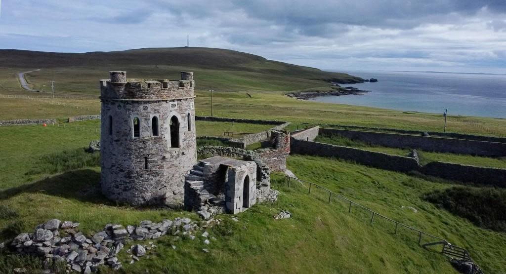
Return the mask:
[[506, 188], [506, 169], [501, 168], [430, 162], [420, 172], [448, 180]]

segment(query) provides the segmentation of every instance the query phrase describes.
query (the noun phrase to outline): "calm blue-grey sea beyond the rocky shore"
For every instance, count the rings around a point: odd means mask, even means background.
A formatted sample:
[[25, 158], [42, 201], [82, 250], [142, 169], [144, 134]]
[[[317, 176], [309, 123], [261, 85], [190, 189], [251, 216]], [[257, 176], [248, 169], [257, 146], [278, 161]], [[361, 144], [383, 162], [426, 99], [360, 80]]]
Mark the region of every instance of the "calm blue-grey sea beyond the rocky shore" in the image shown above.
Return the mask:
[[369, 106], [403, 111], [506, 118], [506, 75], [350, 71], [375, 83], [342, 84], [364, 95], [325, 96], [318, 102]]

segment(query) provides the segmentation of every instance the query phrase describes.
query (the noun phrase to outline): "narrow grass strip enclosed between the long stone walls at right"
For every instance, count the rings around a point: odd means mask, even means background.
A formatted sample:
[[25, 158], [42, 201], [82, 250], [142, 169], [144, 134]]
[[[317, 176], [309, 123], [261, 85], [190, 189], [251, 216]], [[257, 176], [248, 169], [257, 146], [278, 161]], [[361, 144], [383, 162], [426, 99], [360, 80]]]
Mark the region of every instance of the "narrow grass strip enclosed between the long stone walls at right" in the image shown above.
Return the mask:
[[[370, 145], [367, 143], [351, 140], [337, 135], [319, 135], [315, 139], [315, 142], [338, 146], [354, 147], [364, 150], [383, 152], [400, 156], [407, 156], [411, 151], [410, 149], [398, 149], [398, 148], [388, 148]], [[416, 150], [416, 151], [418, 152], [420, 164], [422, 165], [428, 164], [433, 161], [440, 161], [465, 165], [506, 168], [506, 157], [491, 158], [491, 157], [481, 157], [463, 154], [453, 154], [453, 153], [429, 152], [423, 150]]]

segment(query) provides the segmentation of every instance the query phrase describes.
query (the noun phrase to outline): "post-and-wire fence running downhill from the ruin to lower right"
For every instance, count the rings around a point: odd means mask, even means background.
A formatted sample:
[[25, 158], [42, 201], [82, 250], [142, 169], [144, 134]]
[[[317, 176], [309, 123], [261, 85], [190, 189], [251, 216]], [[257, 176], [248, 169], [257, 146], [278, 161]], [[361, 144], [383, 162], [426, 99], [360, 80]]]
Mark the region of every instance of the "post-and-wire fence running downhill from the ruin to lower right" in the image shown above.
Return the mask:
[[[441, 253], [443, 255], [462, 261], [472, 262], [472, 273], [483, 273], [478, 264], [476, 264], [476, 262], [469, 255], [468, 250], [451, 245], [448, 241], [441, 237], [421, 231], [415, 227], [389, 218], [313, 182], [301, 180], [299, 178], [294, 178], [279, 173], [271, 173], [271, 176], [272, 175], [281, 178], [281, 182], [285, 184], [285, 186], [287, 186], [290, 190], [298, 189], [305, 191], [307, 195], [311, 195], [321, 202], [326, 202], [329, 204], [334, 203], [335, 205], [341, 207], [341, 209], [347, 210], [348, 213], [354, 214], [356, 218], [368, 222], [370, 225], [374, 224], [374, 227], [377, 227], [378, 229], [383, 228], [387, 232], [401, 236], [407, 240], [416, 239], [419, 246], [427, 248], [429, 246], [441, 245]], [[448, 252], [448, 250], [458, 250], [459, 252]]]

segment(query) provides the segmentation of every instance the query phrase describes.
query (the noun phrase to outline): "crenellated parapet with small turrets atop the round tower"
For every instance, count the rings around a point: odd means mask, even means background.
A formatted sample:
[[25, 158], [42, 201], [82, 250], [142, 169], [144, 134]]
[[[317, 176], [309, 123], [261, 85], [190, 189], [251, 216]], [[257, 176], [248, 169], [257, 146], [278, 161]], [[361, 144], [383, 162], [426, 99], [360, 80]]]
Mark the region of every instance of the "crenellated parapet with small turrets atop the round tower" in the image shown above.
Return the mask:
[[110, 71], [100, 80], [102, 100], [177, 100], [194, 98], [193, 72], [181, 72], [181, 80], [128, 79], [125, 71]]

